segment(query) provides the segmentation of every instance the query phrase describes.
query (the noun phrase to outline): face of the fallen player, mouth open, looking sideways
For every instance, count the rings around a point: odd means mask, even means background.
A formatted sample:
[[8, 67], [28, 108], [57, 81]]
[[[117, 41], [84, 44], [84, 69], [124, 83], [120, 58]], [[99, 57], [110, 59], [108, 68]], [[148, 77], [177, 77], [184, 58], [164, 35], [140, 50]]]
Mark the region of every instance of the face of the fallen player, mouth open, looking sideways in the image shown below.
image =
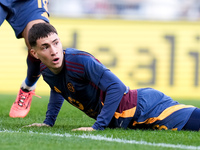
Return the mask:
[[37, 40], [37, 46], [31, 50], [37, 59], [40, 59], [53, 73], [58, 74], [63, 67], [63, 49], [57, 34]]

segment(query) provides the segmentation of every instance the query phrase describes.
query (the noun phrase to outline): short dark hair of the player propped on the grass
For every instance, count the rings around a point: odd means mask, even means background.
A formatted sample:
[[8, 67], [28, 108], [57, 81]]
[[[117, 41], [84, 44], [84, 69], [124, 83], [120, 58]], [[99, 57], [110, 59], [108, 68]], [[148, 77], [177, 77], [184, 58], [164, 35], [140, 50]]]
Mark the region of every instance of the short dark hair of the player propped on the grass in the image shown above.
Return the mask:
[[37, 45], [36, 41], [40, 38], [48, 37], [52, 33], [57, 33], [56, 29], [49, 23], [34, 24], [28, 33], [28, 42], [31, 47]]

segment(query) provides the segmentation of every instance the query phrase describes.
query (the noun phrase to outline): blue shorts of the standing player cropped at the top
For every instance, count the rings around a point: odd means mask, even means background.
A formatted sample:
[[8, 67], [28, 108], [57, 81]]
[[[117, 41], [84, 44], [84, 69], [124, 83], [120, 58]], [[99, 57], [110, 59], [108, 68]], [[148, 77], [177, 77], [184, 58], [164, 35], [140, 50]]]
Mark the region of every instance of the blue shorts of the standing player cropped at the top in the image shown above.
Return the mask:
[[0, 25], [7, 20], [17, 38], [21, 38], [26, 25], [33, 20], [49, 22], [48, 0], [1, 0]]

